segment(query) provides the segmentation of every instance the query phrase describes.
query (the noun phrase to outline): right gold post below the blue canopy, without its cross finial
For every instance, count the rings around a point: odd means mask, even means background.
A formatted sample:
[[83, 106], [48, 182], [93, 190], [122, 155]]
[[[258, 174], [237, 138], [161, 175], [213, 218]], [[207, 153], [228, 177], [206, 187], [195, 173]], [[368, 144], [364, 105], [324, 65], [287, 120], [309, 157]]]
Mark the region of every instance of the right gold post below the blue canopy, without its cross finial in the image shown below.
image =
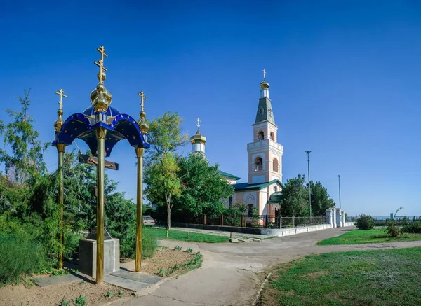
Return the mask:
[[145, 148], [135, 148], [138, 158], [138, 193], [136, 196], [136, 259], [135, 272], [140, 271], [142, 265], [142, 209], [143, 209], [143, 153]]

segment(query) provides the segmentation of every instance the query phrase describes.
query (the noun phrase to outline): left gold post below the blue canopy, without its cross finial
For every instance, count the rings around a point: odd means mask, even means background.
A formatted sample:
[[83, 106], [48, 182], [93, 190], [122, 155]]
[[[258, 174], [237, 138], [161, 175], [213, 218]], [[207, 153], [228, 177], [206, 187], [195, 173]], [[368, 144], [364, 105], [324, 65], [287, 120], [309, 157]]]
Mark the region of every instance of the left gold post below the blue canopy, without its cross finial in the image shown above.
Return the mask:
[[65, 236], [64, 236], [64, 210], [65, 210], [65, 195], [64, 195], [64, 183], [63, 183], [63, 164], [64, 164], [64, 155], [65, 155], [65, 144], [57, 144], [58, 152], [58, 204], [60, 205], [60, 220], [59, 220], [59, 237], [60, 237], [60, 250], [58, 251], [58, 268], [62, 269], [63, 267], [63, 247], [65, 245]]

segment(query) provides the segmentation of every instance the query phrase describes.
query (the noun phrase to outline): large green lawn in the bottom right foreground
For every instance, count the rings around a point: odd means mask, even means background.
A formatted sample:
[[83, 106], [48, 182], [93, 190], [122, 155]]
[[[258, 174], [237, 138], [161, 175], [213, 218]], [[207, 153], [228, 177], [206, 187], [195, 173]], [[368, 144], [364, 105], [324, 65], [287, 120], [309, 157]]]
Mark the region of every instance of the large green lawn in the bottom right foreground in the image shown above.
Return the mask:
[[421, 305], [421, 248], [307, 256], [281, 265], [260, 305]]

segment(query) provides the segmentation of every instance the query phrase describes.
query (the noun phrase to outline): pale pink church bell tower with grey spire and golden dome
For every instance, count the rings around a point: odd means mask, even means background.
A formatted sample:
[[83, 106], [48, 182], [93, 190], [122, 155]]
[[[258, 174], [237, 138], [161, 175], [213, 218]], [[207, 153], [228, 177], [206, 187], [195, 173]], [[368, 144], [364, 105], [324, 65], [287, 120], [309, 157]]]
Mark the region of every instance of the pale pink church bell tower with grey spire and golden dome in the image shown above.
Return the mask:
[[278, 144], [278, 127], [275, 124], [272, 101], [269, 99], [269, 83], [263, 69], [260, 83], [260, 99], [253, 127], [253, 142], [247, 144], [248, 183], [282, 181], [283, 146]]

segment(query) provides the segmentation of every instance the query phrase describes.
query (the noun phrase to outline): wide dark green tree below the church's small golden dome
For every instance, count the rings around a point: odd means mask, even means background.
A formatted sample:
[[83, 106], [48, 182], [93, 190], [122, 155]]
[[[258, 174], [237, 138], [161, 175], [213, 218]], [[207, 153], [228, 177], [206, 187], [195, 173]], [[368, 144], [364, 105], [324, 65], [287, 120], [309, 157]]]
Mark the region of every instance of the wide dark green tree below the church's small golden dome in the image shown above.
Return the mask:
[[217, 216], [225, 209], [223, 199], [234, 193], [225, 179], [219, 174], [219, 165], [209, 165], [203, 155], [190, 154], [180, 158], [179, 172], [181, 195], [178, 209], [193, 217], [207, 214]]

